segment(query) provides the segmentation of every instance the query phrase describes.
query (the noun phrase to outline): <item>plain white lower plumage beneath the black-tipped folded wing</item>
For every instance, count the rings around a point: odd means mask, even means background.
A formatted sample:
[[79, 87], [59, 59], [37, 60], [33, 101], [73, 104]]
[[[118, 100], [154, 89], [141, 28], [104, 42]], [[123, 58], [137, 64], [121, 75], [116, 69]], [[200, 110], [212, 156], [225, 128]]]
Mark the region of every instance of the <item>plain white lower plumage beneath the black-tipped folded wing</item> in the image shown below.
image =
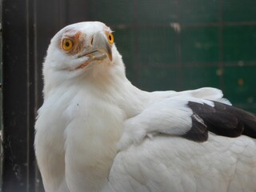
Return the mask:
[[207, 142], [158, 135], [118, 153], [113, 191], [255, 191], [256, 141], [209, 134]]

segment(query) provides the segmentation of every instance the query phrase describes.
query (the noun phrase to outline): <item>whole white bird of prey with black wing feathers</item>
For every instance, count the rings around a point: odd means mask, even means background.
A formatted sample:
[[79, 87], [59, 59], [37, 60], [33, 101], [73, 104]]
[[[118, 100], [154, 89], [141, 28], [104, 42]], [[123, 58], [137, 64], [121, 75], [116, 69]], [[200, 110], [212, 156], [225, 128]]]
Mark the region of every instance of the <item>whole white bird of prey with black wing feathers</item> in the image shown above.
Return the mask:
[[46, 192], [256, 191], [256, 118], [214, 88], [146, 92], [102, 22], [66, 26], [43, 65]]

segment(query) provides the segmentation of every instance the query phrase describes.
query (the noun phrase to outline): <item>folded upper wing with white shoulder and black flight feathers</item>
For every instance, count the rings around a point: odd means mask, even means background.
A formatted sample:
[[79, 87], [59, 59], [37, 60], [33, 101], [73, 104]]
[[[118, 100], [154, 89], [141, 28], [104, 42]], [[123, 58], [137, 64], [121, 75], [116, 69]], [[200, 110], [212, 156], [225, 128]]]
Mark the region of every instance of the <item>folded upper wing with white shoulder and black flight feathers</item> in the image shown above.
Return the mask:
[[119, 150], [155, 134], [182, 136], [205, 142], [208, 131], [227, 137], [246, 134], [256, 138], [256, 117], [222, 102], [183, 96], [162, 99], [124, 122]]

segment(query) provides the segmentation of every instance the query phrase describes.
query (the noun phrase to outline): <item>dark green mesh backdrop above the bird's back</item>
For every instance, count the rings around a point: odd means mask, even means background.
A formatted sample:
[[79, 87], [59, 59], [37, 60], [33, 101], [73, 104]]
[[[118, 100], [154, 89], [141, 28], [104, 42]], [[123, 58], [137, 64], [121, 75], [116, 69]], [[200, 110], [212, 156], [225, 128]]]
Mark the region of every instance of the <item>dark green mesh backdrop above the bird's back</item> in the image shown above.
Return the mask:
[[255, 0], [90, 1], [143, 90], [214, 86], [256, 112]]

